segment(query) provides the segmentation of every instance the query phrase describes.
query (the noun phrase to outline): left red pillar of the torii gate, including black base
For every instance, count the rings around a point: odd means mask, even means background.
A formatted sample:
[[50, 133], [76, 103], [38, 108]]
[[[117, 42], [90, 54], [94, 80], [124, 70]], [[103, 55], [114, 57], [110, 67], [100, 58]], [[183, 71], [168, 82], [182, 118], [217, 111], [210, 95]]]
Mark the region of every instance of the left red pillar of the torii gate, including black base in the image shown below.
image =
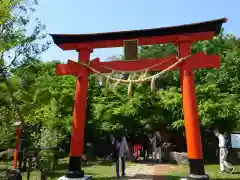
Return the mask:
[[[93, 49], [89, 46], [78, 46], [78, 62], [88, 64]], [[74, 72], [73, 72], [74, 74]], [[70, 145], [69, 169], [67, 178], [83, 178], [82, 154], [84, 149], [84, 130], [86, 121], [86, 105], [88, 92], [88, 68], [83, 68], [77, 77], [73, 110], [72, 136]]]

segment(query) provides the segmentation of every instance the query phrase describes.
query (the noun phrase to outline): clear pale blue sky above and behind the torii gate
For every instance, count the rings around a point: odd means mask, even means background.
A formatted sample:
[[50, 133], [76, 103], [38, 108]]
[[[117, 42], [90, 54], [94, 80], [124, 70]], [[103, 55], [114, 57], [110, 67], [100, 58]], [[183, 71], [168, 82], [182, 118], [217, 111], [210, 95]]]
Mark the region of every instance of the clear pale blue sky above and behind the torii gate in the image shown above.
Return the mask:
[[[239, 0], [40, 0], [34, 17], [54, 34], [148, 29], [227, 17], [226, 32], [240, 36], [239, 7]], [[121, 48], [97, 49], [92, 58], [120, 54]], [[43, 61], [67, 59], [77, 60], [77, 53], [54, 44], [42, 55]]]

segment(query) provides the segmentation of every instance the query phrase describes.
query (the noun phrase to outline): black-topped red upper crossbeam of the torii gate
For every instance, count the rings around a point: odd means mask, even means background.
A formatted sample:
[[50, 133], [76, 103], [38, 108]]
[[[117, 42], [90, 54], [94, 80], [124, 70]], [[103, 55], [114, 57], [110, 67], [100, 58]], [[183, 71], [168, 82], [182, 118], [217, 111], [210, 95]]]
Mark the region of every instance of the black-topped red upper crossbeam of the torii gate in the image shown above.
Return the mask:
[[[95, 34], [51, 34], [54, 43], [63, 50], [75, 50], [79, 44], [93, 49], [122, 47], [124, 40], [138, 39], [139, 45], [164, 44], [191, 38], [191, 41], [207, 40], [218, 34], [226, 18], [181, 26], [145, 30], [120, 31]], [[180, 38], [180, 39], [179, 39]]]

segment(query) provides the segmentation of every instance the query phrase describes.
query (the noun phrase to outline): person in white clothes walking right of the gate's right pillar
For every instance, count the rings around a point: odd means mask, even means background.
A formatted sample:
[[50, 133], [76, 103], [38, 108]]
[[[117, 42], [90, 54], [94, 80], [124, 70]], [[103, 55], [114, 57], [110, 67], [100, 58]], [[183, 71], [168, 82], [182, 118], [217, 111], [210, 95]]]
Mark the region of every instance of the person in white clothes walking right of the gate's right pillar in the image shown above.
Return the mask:
[[216, 137], [218, 137], [218, 147], [219, 147], [219, 163], [220, 163], [220, 173], [227, 172], [226, 170], [230, 170], [231, 173], [234, 172], [234, 167], [227, 162], [227, 139], [221, 134], [218, 130], [214, 131]]

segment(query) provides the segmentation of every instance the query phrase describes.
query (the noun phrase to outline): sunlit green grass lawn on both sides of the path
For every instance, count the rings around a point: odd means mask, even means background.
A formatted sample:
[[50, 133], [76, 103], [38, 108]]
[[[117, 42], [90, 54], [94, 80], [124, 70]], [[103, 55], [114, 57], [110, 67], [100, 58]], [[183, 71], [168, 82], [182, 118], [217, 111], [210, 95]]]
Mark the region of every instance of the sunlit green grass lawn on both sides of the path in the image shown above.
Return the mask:
[[[128, 166], [134, 165], [134, 163], [128, 163]], [[8, 164], [9, 169], [11, 169], [12, 163]], [[7, 167], [5, 164], [0, 164], [0, 170], [5, 169]], [[58, 177], [61, 177], [65, 174], [68, 167], [67, 160], [62, 160], [57, 166], [54, 172], [50, 172], [47, 174], [48, 180], [56, 180]], [[219, 165], [206, 165], [206, 173], [210, 176], [211, 180], [237, 180], [240, 179], [240, 174], [238, 174], [238, 170], [240, 170], [240, 166], [236, 167], [235, 174], [219, 174]], [[92, 175], [93, 180], [114, 180], [115, 178], [115, 165], [112, 163], [101, 163], [101, 162], [89, 162], [88, 165], [84, 167], [85, 174]], [[173, 171], [173, 172], [172, 172]], [[177, 180], [180, 177], [184, 177], [188, 173], [188, 166], [180, 166], [179, 168], [169, 171], [162, 176], [165, 177], [166, 180]], [[27, 174], [23, 173], [23, 180], [27, 179]], [[33, 171], [31, 172], [31, 180], [40, 180], [40, 172]]]

